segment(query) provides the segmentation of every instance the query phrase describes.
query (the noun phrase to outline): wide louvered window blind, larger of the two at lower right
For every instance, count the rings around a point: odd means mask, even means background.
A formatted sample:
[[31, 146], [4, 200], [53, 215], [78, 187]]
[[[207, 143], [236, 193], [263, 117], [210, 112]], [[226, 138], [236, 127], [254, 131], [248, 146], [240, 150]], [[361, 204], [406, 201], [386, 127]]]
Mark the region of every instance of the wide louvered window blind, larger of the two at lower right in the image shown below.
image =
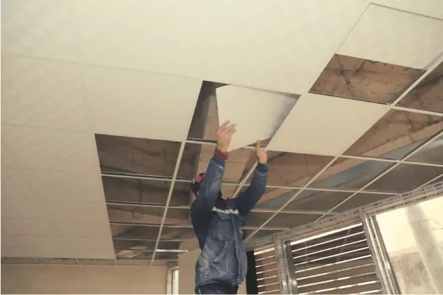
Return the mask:
[[362, 224], [291, 243], [299, 294], [381, 294]]

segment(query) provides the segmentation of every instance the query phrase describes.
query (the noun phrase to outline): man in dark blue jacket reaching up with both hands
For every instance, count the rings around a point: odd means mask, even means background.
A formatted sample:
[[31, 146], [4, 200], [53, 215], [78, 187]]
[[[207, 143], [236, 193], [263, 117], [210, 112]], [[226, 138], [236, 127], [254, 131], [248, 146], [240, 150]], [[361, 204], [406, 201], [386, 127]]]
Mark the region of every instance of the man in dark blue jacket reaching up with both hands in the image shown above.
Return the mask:
[[237, 294], [247, 271], [242, 225], [262, 197], [268, 179], [266, 150], [255, 145], [258, 163], [251, 185], [234, 199], [221, 198], [221, 180], [235, 125], [226, 121], [217, 130], [217, 148], [206, 173], [192, 181], [197, 198], [191, 206], [192, 227], [201, 254], [195, 267], [196, 294]]

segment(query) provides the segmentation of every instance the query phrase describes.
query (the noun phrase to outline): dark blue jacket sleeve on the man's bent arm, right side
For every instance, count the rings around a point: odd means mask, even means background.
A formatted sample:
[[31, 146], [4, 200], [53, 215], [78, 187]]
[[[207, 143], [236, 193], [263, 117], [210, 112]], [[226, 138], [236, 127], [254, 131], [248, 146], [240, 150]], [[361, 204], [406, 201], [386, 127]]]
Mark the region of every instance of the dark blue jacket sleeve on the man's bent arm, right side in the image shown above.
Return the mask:
[[255, 204], [257, 204], [258, 200], [262, 197], [267, 182], [268, 165], [258, 163], [251, 185], [244, 193], [241, 193], [234, 199], [240, 215], [246, 217], [252, 208], [254, 208]]

